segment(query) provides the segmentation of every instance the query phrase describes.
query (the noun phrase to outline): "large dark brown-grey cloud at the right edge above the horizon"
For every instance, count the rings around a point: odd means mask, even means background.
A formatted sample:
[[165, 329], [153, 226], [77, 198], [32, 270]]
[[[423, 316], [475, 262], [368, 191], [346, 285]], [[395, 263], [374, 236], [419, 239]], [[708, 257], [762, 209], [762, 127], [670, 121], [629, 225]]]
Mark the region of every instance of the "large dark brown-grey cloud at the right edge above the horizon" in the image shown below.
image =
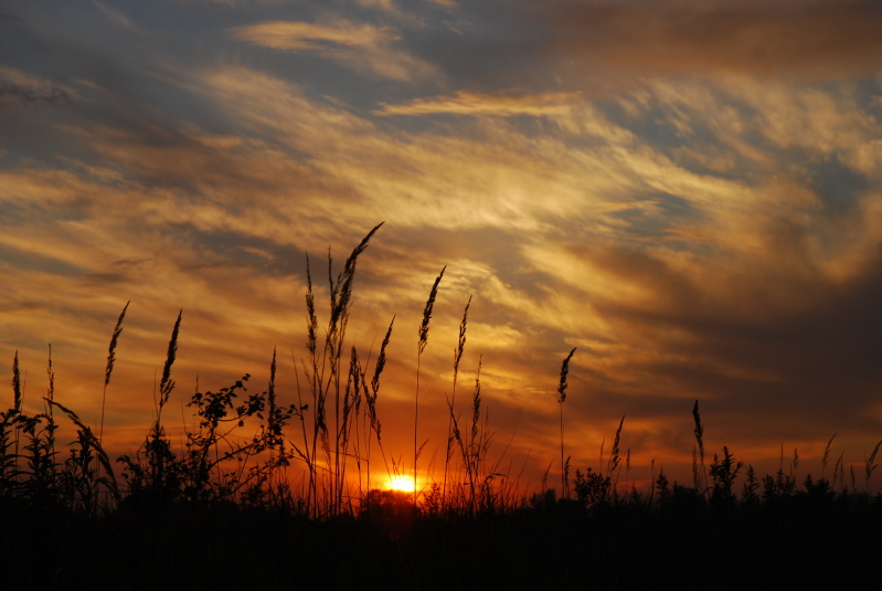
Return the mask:
[[[669, 397], [678, 392], [709, 399], [720, 413], [755, 413], [754, 421], [775, 436], [793, 436], [794, 429], [823, 421], [871, 426], [867, 411], [882, 384], [882, 250], [867, 273], [839, 285], [800, 282], [784, 271], [779, 277], [748, 270], [735, 277], [721, 273], [711, 281], [733, 286], [731, 298], [722, 300], [650, 253], [595, 250], [583, 256], [653, 294], [642, 303], [595, 297], [592, 304], [615, 333], [660, 353], [631, 356], [612, 382], [591, 377], [589, 391], [607, 391], [618, 408], [652, 409], [653, 414], [670, 409]], [[789, 294], [785, 298], [793, 298], [793, 309], [769, 308], [762, 297], [747, 299], [753, 305], [746, 312], [742, 306], [745, 293], [776, 289]], [[628, 374], [649, 380], [633, 392], [631, 403], [621, 399]], [[667, 401], [659, 402], [659, 394]], [[779, 424], [785, 414], [789, 422]]]

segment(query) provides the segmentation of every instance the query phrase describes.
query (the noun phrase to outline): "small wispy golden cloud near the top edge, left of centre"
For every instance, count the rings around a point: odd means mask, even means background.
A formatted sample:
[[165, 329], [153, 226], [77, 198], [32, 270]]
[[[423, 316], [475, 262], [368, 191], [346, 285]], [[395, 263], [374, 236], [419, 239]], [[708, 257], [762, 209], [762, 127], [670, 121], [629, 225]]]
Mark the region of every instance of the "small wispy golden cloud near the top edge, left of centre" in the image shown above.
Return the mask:
[[429, 77], [434, 68], [395, 48], [400, 36], [390, 28], [334, 19], [327, 24], [269, 21], [232, 30], [233, 36], [255, 45], [284, 51], [311, 52], [357, 72], [397, 81]]

